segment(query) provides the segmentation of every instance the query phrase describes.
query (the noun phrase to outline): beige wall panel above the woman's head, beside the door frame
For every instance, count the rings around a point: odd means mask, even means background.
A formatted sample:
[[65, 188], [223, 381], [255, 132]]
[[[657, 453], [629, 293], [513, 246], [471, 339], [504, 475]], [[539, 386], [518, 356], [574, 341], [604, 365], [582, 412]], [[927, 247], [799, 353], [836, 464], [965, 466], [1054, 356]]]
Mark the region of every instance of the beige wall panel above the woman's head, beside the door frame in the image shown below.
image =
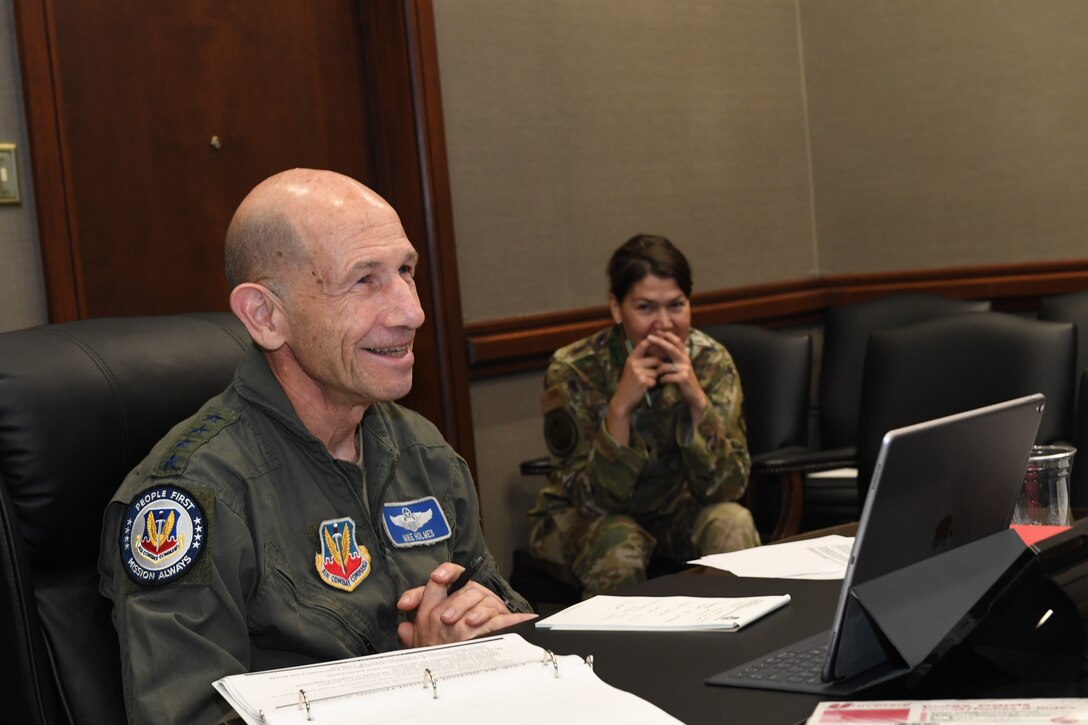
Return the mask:
[[816, 272], [793, 0], [438, 0], [467, 322], [599, 305], [671, 237], [702, 290]]

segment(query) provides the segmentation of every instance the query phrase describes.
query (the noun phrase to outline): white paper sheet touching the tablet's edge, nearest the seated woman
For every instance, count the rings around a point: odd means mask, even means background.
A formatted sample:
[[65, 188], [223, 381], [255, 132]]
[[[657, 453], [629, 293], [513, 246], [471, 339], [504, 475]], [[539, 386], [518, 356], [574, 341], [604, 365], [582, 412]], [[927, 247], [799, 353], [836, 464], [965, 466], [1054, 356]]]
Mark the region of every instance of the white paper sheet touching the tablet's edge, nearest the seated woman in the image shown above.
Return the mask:
[[841, 579], [846, 576], [853, 548], [854, 537], [832, 534], [712, 554], [688, 563], [732, 572], [739, 577]]

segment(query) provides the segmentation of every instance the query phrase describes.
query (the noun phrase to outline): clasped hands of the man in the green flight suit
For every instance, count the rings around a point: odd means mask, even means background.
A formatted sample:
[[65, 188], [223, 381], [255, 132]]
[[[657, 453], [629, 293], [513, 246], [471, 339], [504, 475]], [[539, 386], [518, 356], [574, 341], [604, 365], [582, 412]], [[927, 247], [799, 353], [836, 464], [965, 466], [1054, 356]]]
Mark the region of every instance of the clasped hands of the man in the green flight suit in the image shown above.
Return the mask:
[[459, 642], [536, 616], [511, 613], [495, 592], [475, 581], [447, 594], [446, 588], [463, 569], [454, 563], [440, 564], [431, 572], [426, 585], [409, 589], [400, 597], [397, 609], [416, 613], [413, 620], [401, 622], [397, 627], [405, 647]]

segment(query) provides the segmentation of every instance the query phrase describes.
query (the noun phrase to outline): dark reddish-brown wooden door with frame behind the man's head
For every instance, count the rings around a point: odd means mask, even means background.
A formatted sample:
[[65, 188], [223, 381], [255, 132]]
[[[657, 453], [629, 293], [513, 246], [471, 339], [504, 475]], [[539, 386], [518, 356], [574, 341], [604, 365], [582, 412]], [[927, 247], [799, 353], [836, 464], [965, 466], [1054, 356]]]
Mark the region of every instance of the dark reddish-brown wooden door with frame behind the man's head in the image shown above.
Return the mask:
[[223, 236], [245, 194], [284, 169], [339, 171], [420, 250], [428, 323], [405, 403], [472, 460], [426, 0], [14, 7], [52, 321], [226, 309]]

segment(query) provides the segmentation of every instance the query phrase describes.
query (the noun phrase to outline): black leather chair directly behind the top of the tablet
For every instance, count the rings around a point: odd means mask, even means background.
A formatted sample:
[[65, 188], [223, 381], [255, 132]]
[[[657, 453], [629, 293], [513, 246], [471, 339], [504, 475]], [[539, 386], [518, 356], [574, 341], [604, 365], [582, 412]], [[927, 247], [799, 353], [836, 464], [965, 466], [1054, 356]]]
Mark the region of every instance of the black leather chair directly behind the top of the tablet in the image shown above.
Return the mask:
[[894, 428], [1042, 393], [1037, 442], [1072, 440], [1074, 342], [1071, 323], [1001, 312], [875, 333], [858, 414], [860, 501], [880, 441]]

